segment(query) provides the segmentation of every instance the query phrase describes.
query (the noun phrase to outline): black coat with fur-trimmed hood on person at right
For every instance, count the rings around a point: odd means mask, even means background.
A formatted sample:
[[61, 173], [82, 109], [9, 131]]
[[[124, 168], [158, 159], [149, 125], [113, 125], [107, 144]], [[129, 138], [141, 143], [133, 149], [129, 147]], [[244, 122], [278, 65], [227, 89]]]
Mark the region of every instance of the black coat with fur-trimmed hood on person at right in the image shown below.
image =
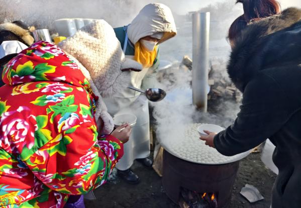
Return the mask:
[[248, 26], [233, 48], [228, 73], [243, 92], [234, 124], [214, 138], [232, 156], [269, 138], [279, 169], [272, 207], [301, 207], [301, 10]]

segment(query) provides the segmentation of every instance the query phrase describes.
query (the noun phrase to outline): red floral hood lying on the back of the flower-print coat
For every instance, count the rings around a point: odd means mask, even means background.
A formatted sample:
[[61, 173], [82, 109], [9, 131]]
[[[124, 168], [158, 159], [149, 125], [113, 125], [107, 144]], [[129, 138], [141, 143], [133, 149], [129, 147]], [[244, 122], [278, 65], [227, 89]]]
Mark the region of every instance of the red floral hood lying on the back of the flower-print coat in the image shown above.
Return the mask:
[[3, 70], [3, 81], [19, 85], [34, 81], [61, 81], [89, 88], [78, 65], [56, 45], [40, 41], [21, 51]]

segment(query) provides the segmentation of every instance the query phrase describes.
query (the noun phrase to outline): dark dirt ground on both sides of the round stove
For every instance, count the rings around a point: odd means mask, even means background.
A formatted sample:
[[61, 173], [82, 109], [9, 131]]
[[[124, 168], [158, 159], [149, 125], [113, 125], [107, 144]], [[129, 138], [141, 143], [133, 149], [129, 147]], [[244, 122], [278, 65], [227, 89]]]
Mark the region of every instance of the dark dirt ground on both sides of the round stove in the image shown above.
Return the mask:
[[[144, 168], [135, 162], [133, 170], [140, 176], [138, 185], [127, 184], [116, 178], [94, 191], [96, 200], [85, 200], [89, 207], [105, 208], [172, 208], [179, 207], [165, 194], [161, 177], [154, 170]], [[230, 203], [225, 208], [269, 208], [271, 202], [271, 188], [276, 175], [266, 169], [260, 160], [260, 154], [253, 153], [240, 162], [240, 168], [233, 187]], [[264, 199], [253, 204], [240, 195], [245, 184], [258, 188]]]

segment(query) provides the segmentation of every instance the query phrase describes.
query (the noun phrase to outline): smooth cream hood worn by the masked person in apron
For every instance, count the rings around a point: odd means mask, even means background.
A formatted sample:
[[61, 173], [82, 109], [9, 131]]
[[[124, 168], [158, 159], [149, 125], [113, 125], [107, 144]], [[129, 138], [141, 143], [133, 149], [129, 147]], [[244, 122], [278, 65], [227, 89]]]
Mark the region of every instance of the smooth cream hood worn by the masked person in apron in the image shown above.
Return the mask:
[[141, 38], [164, 33], [159, 44], [177, 33], [170, 9], [163, 4], [146, 5], [128, 27], [128, 36], [135, 45]]

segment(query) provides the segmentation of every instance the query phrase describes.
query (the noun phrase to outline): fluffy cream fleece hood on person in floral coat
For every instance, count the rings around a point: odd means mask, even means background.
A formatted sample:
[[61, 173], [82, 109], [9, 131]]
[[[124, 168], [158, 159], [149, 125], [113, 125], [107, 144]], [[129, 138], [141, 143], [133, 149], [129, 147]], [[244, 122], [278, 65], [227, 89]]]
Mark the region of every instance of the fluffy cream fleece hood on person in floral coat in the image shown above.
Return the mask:
[[126, 59], [114, 29], [104, 20], [85, 25], [59, 46], [85, 67], [104, 97], [126, 89], [131, 81], [130, 71], [142, 65]]

